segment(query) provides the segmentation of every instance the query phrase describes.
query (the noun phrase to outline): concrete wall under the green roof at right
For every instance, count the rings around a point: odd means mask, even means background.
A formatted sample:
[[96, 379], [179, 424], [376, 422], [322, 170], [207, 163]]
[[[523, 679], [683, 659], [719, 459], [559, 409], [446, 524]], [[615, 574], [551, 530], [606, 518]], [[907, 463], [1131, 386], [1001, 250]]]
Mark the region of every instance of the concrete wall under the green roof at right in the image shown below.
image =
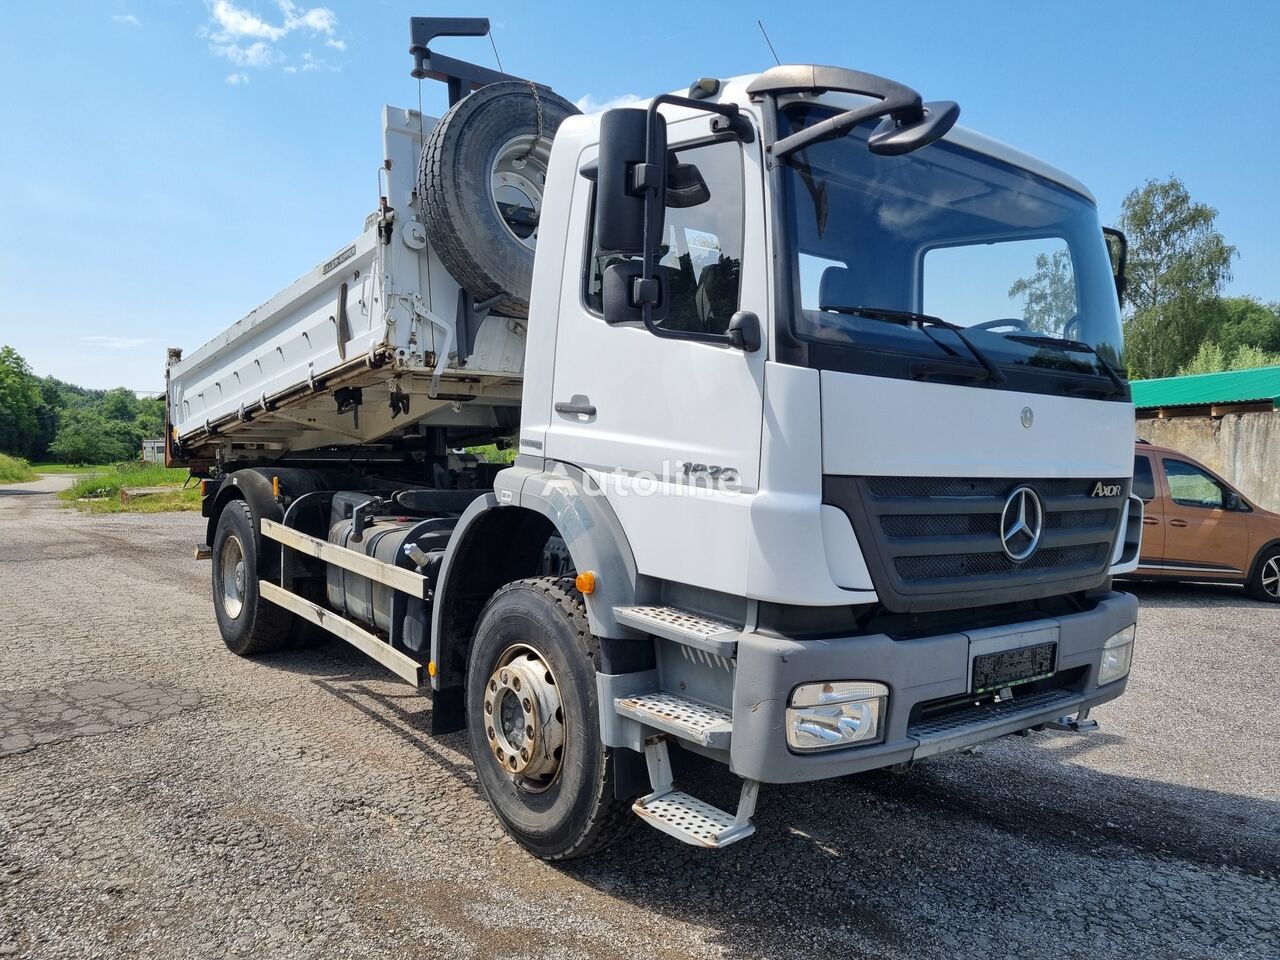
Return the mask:
[[1139, 420], [1137, 434], [1194, 457], [1260, 507], [1280, 512], [1280, 411]]

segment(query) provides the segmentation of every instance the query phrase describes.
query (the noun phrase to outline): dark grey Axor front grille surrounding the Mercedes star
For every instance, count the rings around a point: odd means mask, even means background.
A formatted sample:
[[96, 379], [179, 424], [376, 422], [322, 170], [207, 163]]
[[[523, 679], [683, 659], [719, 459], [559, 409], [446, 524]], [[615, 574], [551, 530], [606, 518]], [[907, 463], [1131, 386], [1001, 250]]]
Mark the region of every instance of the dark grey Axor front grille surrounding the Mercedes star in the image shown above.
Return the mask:
[[[1098, 481], [1116, 497], [1093, 497]], [[1030, 486], [1044, 511], [1039, 545], [1015, 562], [1000, 539], [1009, 495]], [[1106, 576], [1128, 480], [1105, 477], [828, 476], [823, 502], [854, 525], [882, 603], [893, 611], [1037, 599]]]

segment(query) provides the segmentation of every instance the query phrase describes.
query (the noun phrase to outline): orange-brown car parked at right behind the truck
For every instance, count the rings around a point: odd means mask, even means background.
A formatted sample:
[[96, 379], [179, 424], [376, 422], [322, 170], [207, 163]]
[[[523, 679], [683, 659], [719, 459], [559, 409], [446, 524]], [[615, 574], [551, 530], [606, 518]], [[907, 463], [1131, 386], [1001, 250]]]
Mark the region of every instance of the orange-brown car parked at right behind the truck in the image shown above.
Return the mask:
[[1146, 504], [1139, 579], [1244, 584], [1280, 603], [1280, 513], [1185, 453], [1139, 440], [1133, 492]]

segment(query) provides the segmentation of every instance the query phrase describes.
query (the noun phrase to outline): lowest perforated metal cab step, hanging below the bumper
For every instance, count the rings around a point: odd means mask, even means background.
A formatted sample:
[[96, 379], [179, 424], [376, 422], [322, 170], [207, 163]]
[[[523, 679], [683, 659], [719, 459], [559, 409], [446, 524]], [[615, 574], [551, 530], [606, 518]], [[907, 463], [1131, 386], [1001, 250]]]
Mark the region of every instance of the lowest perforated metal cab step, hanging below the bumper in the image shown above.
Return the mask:
[[669, 833], [692, 846], [718, 849], [755, 833], [751, 814], [755, 813], [759, 781], [742, 781], [737, 813], [728, 813], [682, 790], [676, 790], [671, 781], [671, 754], [667, 750], [666, 737], [649, 737], [645, 741], [644, 758], [649, 767], [653, 792], [631, 805], [637, 817], [663, 833]]

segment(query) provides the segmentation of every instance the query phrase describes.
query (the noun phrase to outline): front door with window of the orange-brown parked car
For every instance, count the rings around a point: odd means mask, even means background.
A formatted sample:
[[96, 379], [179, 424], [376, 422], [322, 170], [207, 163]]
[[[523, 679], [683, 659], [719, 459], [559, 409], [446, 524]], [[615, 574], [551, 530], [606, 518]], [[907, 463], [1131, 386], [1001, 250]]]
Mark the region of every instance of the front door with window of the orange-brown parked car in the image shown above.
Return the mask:
[[1249, 562], [1249, 525], [1242, 511], [1228, 509], [1228, 488], [1210, 471], [1176, 457], [1164, 457], [1165, 571], [1189, 577], [1240, 579]]

